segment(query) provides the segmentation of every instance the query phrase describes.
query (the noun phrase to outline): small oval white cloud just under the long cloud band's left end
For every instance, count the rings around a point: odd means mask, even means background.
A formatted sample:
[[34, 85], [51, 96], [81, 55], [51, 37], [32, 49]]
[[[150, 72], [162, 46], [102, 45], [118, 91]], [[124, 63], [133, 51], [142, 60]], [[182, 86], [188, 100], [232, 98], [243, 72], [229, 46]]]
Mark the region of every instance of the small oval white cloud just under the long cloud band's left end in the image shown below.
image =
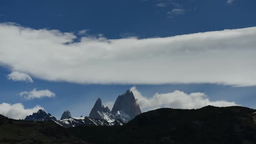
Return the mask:
[[33, 82], [33, 79], [30, 77], [30, 75], [17, 71], [11, 72], [9, 75], [7, 75], [7, 79], [13, 81]]

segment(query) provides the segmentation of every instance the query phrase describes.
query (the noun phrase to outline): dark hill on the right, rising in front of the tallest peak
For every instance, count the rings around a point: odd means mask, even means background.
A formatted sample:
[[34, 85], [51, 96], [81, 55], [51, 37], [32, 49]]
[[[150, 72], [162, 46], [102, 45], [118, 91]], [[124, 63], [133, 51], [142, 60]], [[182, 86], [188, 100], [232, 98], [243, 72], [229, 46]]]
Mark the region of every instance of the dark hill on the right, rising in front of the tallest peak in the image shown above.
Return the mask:
[[77, 126], [75, 136], [98, 144], [255, 144], [256, 110], [233, 106], [144, 112], [124, 126]]

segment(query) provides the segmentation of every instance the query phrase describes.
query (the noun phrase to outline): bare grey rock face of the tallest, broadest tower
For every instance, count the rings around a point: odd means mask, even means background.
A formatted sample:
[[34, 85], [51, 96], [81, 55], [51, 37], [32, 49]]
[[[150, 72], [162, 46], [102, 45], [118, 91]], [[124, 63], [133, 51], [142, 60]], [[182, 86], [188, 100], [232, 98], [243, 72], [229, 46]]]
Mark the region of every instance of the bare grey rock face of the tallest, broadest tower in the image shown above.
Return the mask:
[[135, 97], [130, 90], [127, 90], [124, 94], [119, 95], [115, 101], [111, 113], [123, 111], [129, 115], [131, 119], [135, 118], [136, 115], [141, 114], [141, 108], [136, 103]]

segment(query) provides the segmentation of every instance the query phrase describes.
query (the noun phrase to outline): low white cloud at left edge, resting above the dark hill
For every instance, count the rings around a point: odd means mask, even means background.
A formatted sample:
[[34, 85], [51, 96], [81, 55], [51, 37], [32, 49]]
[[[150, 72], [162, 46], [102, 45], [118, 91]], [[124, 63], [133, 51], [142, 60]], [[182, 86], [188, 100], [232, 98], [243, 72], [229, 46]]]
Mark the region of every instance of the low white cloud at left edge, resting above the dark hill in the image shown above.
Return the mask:
[[32, 115], [33, 112], [37, 112], [39, 109], [44, 110], [39, 105], [34, 108], [24, 108], [21, 103], [11, 105], [3, 102], [0, 104], [0, 114], [13, 119], [24, 119], [27, 115]]

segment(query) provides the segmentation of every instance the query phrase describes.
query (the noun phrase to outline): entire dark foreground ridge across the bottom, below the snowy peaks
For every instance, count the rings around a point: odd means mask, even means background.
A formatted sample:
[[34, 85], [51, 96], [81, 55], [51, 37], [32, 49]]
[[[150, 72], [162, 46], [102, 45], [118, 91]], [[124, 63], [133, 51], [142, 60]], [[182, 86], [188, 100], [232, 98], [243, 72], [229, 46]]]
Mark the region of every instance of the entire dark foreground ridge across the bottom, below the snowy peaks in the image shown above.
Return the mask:
[[[233, 106], [144, 112], [123, 126], [63, 128], [0, 115], [1, 144], [256, 144], [254, 109]], [[253, 119], [254, 118], [254, 119]]]

